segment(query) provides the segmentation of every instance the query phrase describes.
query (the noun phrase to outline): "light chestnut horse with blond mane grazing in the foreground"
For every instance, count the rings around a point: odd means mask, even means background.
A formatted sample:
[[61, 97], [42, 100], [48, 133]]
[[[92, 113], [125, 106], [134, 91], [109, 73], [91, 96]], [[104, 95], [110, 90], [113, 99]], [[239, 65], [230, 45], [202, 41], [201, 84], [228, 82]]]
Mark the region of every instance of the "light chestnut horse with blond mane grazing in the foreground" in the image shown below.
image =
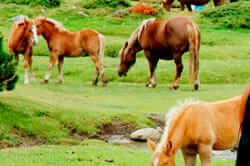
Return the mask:
[[242, 96], [217, 102], [191, 101], [173, 108], [160, 143], [148, 140], [154, 150], [152, 166], [175, 166], [181, 149], [185, 166], [211, 166], [212, 150], [238, 147], [237, 166], [250, 165], [250, 86]]

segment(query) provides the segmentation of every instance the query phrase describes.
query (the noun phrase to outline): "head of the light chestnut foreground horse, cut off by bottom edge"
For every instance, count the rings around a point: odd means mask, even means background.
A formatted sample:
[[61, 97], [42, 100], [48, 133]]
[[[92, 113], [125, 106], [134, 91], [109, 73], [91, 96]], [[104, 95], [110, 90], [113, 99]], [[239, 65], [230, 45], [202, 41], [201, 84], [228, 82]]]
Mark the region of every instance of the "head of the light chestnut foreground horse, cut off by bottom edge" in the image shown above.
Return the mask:
[[159, 145], [163, 147], [157, 147], [157, 149], [156, 144], [152, 140], [148, 140], [147, 144], [154, 151], [151, 166], [175, 166], [174, 156], [171, 155], [171, 142], [167, 142], [166, 145]]

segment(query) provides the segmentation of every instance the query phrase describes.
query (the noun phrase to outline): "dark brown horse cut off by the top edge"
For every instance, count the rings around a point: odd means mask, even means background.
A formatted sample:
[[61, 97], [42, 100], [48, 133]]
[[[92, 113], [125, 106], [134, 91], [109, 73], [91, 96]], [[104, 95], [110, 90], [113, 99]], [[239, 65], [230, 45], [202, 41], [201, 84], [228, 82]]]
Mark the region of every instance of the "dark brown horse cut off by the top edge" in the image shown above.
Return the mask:
[[[186, 5], [190, 12], [192, 11], [191, 5], [205, 5], [209, 2], [209, 0], [179, 0], [179, 1], [181, 4], [181, 10], [184, 11]], [[163, 0], [162, 4], [167, 11], [170, 11], [173, 2], [174, 0]], [[213, 2], [214, 6], [221, 6], [225, 3], [224, 0], [213, 0]]]

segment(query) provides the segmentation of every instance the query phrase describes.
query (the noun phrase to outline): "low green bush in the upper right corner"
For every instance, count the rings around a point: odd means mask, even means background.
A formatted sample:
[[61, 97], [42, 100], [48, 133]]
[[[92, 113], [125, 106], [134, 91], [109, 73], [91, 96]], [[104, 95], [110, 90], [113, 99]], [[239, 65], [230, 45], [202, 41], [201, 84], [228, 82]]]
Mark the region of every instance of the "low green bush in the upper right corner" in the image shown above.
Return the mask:
[[250, 28], [250, 1], [226, 4], [201, 12], [201, 17], [228, 28]]

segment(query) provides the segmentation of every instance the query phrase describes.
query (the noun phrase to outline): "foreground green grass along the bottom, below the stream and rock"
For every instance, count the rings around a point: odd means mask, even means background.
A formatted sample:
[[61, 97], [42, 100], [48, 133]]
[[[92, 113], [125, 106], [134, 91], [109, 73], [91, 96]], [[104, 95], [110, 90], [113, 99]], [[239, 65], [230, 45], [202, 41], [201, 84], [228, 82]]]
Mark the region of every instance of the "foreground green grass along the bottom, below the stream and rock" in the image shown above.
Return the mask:
[[[135, 151], [92, 140], [84, 141], [80, 146], [41, 146], [1, 150], [0, 162], [5, 166], [141, 166], [149, 165], [151, 155], [150, 152]], [[176, 164], [184, 164], [180, 155], [176, 157]], [[234, 162], [214, 160], [213, 165], [233, 166]]]

